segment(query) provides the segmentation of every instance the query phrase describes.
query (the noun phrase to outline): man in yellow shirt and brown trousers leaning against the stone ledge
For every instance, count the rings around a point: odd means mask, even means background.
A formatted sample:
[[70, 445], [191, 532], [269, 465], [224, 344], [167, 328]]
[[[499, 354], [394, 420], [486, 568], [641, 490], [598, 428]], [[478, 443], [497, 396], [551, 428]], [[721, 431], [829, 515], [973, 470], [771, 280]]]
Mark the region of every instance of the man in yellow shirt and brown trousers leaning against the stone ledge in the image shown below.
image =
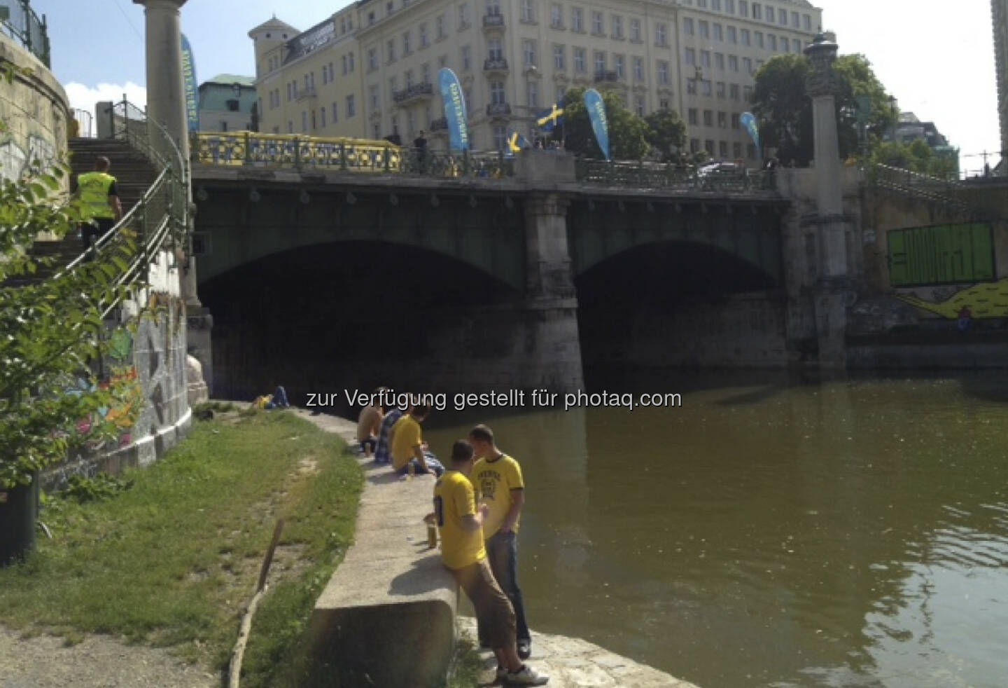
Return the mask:
[[427, 515], [440, 530], [442, 561], [476, 608], [487, 642], [497, 657], [497, 678], [507, 684], [541, 686], [549, 677], [521, 663], [514, 642], [514, 610], [487, 563], [483, 524], [487, 505], [476, 508], [469, 480], [473, 447], [459, 440], [452, 447], [452, 468], [434, 483], [434, 510]]

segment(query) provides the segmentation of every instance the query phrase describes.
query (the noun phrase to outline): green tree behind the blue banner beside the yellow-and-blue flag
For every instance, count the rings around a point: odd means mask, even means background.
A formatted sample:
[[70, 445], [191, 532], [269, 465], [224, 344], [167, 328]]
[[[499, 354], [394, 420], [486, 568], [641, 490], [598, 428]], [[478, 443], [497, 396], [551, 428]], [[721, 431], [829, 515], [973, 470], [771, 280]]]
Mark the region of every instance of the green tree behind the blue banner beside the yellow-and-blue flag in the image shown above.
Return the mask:
[[[563, 97], [563, 126], [553, 129], [553, 137], [563, 136], [563, 146], [586, 157], [602, 157], [592, 123], [585, 108], [585, 89], [574, 88]], [[612, 91], [602, 92], [609, 120], [609, 147], [614, 160], [639, 160], [647, 154], [647, 124], [627, 110], [622, 99]], [[562, 129], [562, 134], [561, 134]]]

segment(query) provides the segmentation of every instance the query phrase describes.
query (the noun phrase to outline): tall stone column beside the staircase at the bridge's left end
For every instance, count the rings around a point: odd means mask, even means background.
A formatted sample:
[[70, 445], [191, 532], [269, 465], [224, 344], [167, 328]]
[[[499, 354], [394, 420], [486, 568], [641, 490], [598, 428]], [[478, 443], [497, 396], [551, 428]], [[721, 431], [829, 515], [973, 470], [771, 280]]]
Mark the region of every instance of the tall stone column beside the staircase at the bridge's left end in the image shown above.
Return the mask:
[[[147, 48], [147, 118], [150, 140], [161, 155], [174, 160], [174, 149], [164, 140], [153, 122], [159, 122], [174, 140], [181, 155], [180, 163], [186, 176], [190, 159], [188, 124], [185, 115], [185, 88], [182, 79], [181, 6], [186, 0], [133, 0], [143, 5], [146, 17]], [[193, 208], [192, 189], [186, 190], [190, 208]], [[192, 223], [192, 213], [187, 214]], [[190, 227], [192, 230], [192, 227]], [[210, 328], [212, 319], [203, 308], [197, 295], [196, 258], [180, 256], [183, 265], [179, 288], [188, 321], [187, 349], [203, 365], [208, 382], [212, 379]]]

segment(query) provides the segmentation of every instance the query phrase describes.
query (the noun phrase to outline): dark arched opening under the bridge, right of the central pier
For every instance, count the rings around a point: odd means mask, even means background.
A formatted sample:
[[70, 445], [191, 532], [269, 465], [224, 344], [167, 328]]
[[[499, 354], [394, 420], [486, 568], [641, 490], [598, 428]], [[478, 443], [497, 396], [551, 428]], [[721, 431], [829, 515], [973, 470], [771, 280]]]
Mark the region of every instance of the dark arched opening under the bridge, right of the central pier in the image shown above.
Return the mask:
[[777, 280], [718, 247], [637, 246], [576, 277], [586, 382], [633, 370], [779, 367], [785, 300]]

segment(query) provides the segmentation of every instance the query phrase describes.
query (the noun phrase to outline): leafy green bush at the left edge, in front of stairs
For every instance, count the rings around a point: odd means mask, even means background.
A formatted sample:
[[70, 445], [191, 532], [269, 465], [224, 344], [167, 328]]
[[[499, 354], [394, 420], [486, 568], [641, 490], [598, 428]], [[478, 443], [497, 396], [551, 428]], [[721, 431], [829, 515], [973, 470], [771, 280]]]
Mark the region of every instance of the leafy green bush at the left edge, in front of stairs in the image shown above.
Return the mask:
[[56, 267], [31, 248], [43, 232], [75, 229], [78, 203], [61, 193], [69, 174], [59, 163], [0, 181], [0, 486], [27, 483], [68, 450], [117, 436], [111, 422], [77, 426], [131, 393], [125, 380], [100, 384], [90, 367], [107, 348], [102, 306], [126, 294], [116, 277], [135, 253], [131, 237], [73, 270], [14, 283]]

